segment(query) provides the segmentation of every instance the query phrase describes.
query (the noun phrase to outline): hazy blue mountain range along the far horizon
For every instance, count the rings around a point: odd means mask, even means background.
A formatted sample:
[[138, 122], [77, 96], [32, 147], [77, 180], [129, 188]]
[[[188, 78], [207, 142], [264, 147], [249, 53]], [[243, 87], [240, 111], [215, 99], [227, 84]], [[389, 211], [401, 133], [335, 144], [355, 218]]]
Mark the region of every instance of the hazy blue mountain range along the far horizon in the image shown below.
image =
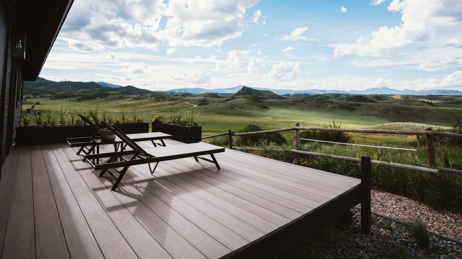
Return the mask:
[[[205, 88], [177, 88], [166, 91], [157, 91], [157, 92], [186, 92], [191, 94], [204, 94], [204, 93], [217, 93], [217, 94], [234, 94], [239, 91], [243, 85], [239, 85], [231, 88], [217, 88], [217, 89], [205, 89]], [[308, 89], [308, 90], [292, 90], [292, 89], [270, 89], [270, 88], [258, 88], [258, 87], [249, 87], [261, 91], [271, 91], [275, 94], [328, 94], [328, 93], [338, 93], [338, 94], [403, 94], [403, 95], [462, 95], [462, 91], [457, 90], [396, 90], [387, 87], [381, 88], [369, 88], [365, 90], [351, 90], [351, 91], [341, 91], [341, 90], [324, 90], [324, 89]]]

